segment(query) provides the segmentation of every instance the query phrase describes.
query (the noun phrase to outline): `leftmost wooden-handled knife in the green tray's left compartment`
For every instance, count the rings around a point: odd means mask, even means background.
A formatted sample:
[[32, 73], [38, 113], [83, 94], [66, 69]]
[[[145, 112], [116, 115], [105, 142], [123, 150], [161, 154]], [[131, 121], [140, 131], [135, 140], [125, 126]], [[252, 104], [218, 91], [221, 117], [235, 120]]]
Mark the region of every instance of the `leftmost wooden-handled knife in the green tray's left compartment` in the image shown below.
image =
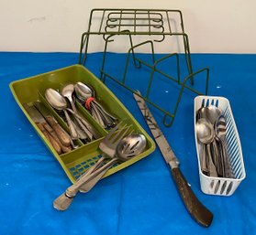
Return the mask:
[[54, 137], [50, 134], [48, 130], [50, 130], [50, 126], [46, 123], [43, 116], [40, 114], [40, 112], [36, 109], [34, 105], [28, 105], [28, 103], [24, 103], [23, 107], [28, 112], [28, 115], [30, 118], [34, 121], [34, 123], [37, 124], [39, 127], [39, 130], [44, 134], [46, 139], [50, 142], [52, 147], [55, 149], [55, 151], [60, 155], [61, 154], [61, 146], [58, 144], [58, 142], [54, 139]]

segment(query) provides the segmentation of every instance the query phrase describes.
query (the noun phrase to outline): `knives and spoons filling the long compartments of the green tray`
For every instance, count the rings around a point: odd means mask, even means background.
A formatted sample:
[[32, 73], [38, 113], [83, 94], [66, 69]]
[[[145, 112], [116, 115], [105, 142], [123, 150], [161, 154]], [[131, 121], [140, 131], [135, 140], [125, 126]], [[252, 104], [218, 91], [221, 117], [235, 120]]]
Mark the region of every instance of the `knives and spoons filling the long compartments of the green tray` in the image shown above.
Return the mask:
[[93, 88], [82, 82], [62, 86], [60, 91], [48, 88], [44, 95], [50, 106], [67, 123], [69, 133], [61, 128], [60, 123], [43, 102], [26, 103], [24, 108], [59, 155], [77, 148], [78, 139], [86, 144], [101, 137], [95, 126], [77, 111], [75, 101], [81, 102], [84, 109], [86, 108], [103, 128], [113, 128], [117, 124], [117, 118], [106, 112], [95, 100]]

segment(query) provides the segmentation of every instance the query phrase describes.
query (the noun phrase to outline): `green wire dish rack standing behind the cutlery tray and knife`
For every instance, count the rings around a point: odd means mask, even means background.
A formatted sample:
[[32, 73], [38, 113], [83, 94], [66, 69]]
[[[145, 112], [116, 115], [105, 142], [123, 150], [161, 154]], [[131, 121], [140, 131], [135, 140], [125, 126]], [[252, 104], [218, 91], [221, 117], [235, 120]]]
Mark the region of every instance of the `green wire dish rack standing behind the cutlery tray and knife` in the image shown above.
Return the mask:
[[[175, 24], [173, 22], [175, 21]], [[177, 27], [179, 26], [179, 27]], [[128, 91], [136, 92], [128, 85], [126, 85], [127, 72], [128, 72], [128, 62], [131, 58], [133, 64], [136, 68], [140, 68], [141, 65], [150, 68], [150, 80], [147, 87], [147, 92], [145, 96], [141, 96], [145, 101], [149, 102], [152, 106], [163, 112], [163, 123], [165, 126], [170, 127], [173, 124], [175, 114], [177, 112], [179, 103], [184, 92], [184, 88], [195, 92], [197, 95], [207, 94], [208, 90], [208, 80], [209, 80], [209, 69], [199, 69], [193, 71], [189, 40], [187, 34], [184, 32], [184, 20], [183, 14], [180, 10], [166, 10], [166, 9], [93, 9], [89, 18], [88, 30], [83, 33], [80, 46], [80, 56], [79, 63], [85, 64], [87, 59], [87, 53], [89, 48], [89, 38], [90, 36], [98, 35], [102, 36], [104, 39], [104, 51], [103, 60], [100, 69], [101, 77], [100, 79], [105, 81], [106, 77], [111, 80], [115, 80], [119, 85], [128, 89]], [[126, 36], [129, 40], [129, 49], [127, 53], [127, 59], [125, 64], [125, 69], [123, 77], [121, 80], [117, 80], [109, 73], [106, 72], [106, 52], [108, 44], [114, 42], [114, 36]], [[143, 36], [146, 39], [137, 45], [134, 45], [133, 37]], [[186, 68], [188, 75], [181, 80], [181, 69], [180, 69], [180, 57], [178, 52], [172, 52], [161, 59], [155, 59], [154, 43], [161, 43], [166, 37], [182, 37], [183, 47], [184, 47], [184, 58], [186, 63]], [[135, 50], [144, 45], [150, 47], [152, 54], [152, 62], [146, 62], [142, 59], [136, 57]], [[176, 59], [176, 72], [177, 78], [173, 78], [169, 74], [158, 69], [158, 65], [165, 59], [175, 58]], [[176, 82], [180, 85], [180, 91], [177, 101], [173, 107], [173, 112], [168, 112], [161, 107], [161, 105], [150, 101], [150, 88], [153, 80], [154, 73], [160, 73], [162, 76], [168, 78], [170, 81]], [[194, 85], [194, 78], [199, 73], [205, 73], [205, 91], [196, 91], [192, 86]], [[190, 85], [187, 85], [187, 81], [190, 81]]]

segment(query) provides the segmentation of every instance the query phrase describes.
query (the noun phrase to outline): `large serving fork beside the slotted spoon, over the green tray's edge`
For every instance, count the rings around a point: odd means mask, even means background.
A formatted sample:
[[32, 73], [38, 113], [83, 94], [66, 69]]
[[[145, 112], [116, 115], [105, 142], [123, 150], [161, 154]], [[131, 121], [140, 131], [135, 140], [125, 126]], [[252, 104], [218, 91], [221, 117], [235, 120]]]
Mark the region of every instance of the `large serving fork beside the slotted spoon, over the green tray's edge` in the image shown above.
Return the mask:
[[[114, 127], [103, 141], [99, 144], [99, 149], [103, 152], [103, 156], [97, 161], [95, 166], [92, 166], [88, 171], [83, 173], [80, 178], [71, 186], [68, 187], [64, 193], [53, 201], [53, 207], [59, 210], [66, 210], [72, 204], [72, 199], [76, 196], [79, 190], [82, 192], [89, 191], [95, 184], [105, 175], [106, 171], [117, 163], [118, 156], [116, 156], [116, 148], [118, 143], [128, 134], [131, 134], [133, 130], [129, 131], [131, 125], [124, 125], [118, 131], [121, 123], [118, 123]], [[116, 132], [117, 131], [117, 132]], [[111, 160], [105, 165], [104, 161], [110, 158]], [[102, 166], [103, 165], [103, 166]], [[101, 177], [99, 177], [101, 176]], [[93, 183], [90, 183], [93, 181]], [[88, 185], [87, 185], [88, 183]]]

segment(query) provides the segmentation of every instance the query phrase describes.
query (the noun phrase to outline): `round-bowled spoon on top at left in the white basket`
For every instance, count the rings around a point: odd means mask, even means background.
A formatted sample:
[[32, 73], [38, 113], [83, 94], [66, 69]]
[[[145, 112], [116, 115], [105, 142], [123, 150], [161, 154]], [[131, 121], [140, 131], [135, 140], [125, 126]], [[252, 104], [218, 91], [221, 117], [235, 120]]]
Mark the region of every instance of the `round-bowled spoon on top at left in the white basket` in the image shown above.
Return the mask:
[[[216, 166], [213, 163], [212, 155], [211, 155], [211, 149], [210, 149], [210, 144], [214, 141], [215, 138], [215, 131], [214, 127], [211, 123], [209, 123], [205, 118], [200, 118], [196, 123], [195, 123], [195, 131], [196, 131], [196, 136], [202, 144], [206, 144], [206, 149], [207, 149], [207, 158], [208, 160], [208, 166], [206, 167], [209, 170], [209, 176], [214, 176], [217, 177], [217, 169]], [[205, 152], [203, 152], [205, 153]], [[203, 156], [204, 158], [204, 156]], [[204, 170], [204, 169], [202, 169]]]

